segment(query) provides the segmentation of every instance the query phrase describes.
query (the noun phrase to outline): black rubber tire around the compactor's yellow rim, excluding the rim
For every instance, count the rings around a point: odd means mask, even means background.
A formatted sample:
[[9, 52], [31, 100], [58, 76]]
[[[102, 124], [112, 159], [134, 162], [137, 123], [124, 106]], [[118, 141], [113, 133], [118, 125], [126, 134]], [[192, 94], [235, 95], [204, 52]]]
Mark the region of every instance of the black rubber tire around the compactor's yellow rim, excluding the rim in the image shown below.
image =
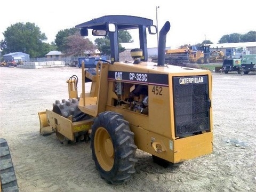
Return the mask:
[[[108, 131], [115, 149], [115, 162], [110, 171], [102, 169], [95, 155], [93, 143], [98, 127], [104, 127]], [[135, 163], [138, 162], [135, 157], [137, 146], [134, 143], [134, 133], [130, 130], [130, 124], [123, 115], [114, 111], [100, 113], [94, 119], [91, 135], [92, 156], [101, 177], [114, 185], [130, 180], [135, 172]]]

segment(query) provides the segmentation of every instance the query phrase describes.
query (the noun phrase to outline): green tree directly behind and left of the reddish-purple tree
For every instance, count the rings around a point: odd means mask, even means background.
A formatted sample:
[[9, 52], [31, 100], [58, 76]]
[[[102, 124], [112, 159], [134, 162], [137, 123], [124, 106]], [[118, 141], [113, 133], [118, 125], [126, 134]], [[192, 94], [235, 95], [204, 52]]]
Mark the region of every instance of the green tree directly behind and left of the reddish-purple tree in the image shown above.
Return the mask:
[[57, 46], [57, 50], [61, 51], [62, 53], [67, 52], [68, 47], [66, 46], [67, 45], [67, 42], [66, 42], [67, 38], [66, 37], [74, 35], [78, 32], [79, 32], [79, 29], [77, 29], [75, 27], [70, 28], [70, 29], [60, 30], [57, 33], [57, 35], [55, 36], [55, 41], [54, 41], [56, 46]]

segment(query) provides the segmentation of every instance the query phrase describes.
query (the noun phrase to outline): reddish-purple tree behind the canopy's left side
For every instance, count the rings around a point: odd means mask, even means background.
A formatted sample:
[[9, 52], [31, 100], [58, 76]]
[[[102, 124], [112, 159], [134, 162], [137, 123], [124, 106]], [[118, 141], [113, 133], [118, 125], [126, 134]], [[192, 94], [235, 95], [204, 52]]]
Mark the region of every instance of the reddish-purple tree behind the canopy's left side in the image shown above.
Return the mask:
[[79, 33], [75, 33], [74, 35], [68, 36], [63, 39], [65, 47], [67, 49], [63, 52], [66, 55], [74, 55], [74, 56], [83, 56], [85, 52], [93, 53], [96, 49], [96, 46], [90, 41], [89, 38], [82, 37]]

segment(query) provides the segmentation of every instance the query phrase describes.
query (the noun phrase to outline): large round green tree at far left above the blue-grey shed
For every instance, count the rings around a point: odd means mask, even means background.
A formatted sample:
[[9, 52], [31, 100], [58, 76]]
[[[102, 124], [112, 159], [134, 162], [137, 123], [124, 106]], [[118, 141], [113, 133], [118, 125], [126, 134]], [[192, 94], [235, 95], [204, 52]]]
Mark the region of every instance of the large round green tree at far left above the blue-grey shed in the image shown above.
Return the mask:
[[47, 40], [44, 33], [41, 33], [35, 23], [15, 23], [3, 33], [4, 40], [0, 42], [2, 53], [24, 52], [31, 58], [39, 57], [50, 51], [43, 41]]

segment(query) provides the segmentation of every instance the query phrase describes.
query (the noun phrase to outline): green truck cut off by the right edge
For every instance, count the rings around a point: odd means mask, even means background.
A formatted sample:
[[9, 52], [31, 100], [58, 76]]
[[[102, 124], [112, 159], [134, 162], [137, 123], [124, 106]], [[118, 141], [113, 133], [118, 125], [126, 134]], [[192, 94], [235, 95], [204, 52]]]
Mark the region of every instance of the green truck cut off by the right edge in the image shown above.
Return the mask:
[[243, 55], [241, 66], [242, 66], [244, 74], [249, 74], [250, 71], [255, 73], [255, 71], [256, 71], [256, 54]]

